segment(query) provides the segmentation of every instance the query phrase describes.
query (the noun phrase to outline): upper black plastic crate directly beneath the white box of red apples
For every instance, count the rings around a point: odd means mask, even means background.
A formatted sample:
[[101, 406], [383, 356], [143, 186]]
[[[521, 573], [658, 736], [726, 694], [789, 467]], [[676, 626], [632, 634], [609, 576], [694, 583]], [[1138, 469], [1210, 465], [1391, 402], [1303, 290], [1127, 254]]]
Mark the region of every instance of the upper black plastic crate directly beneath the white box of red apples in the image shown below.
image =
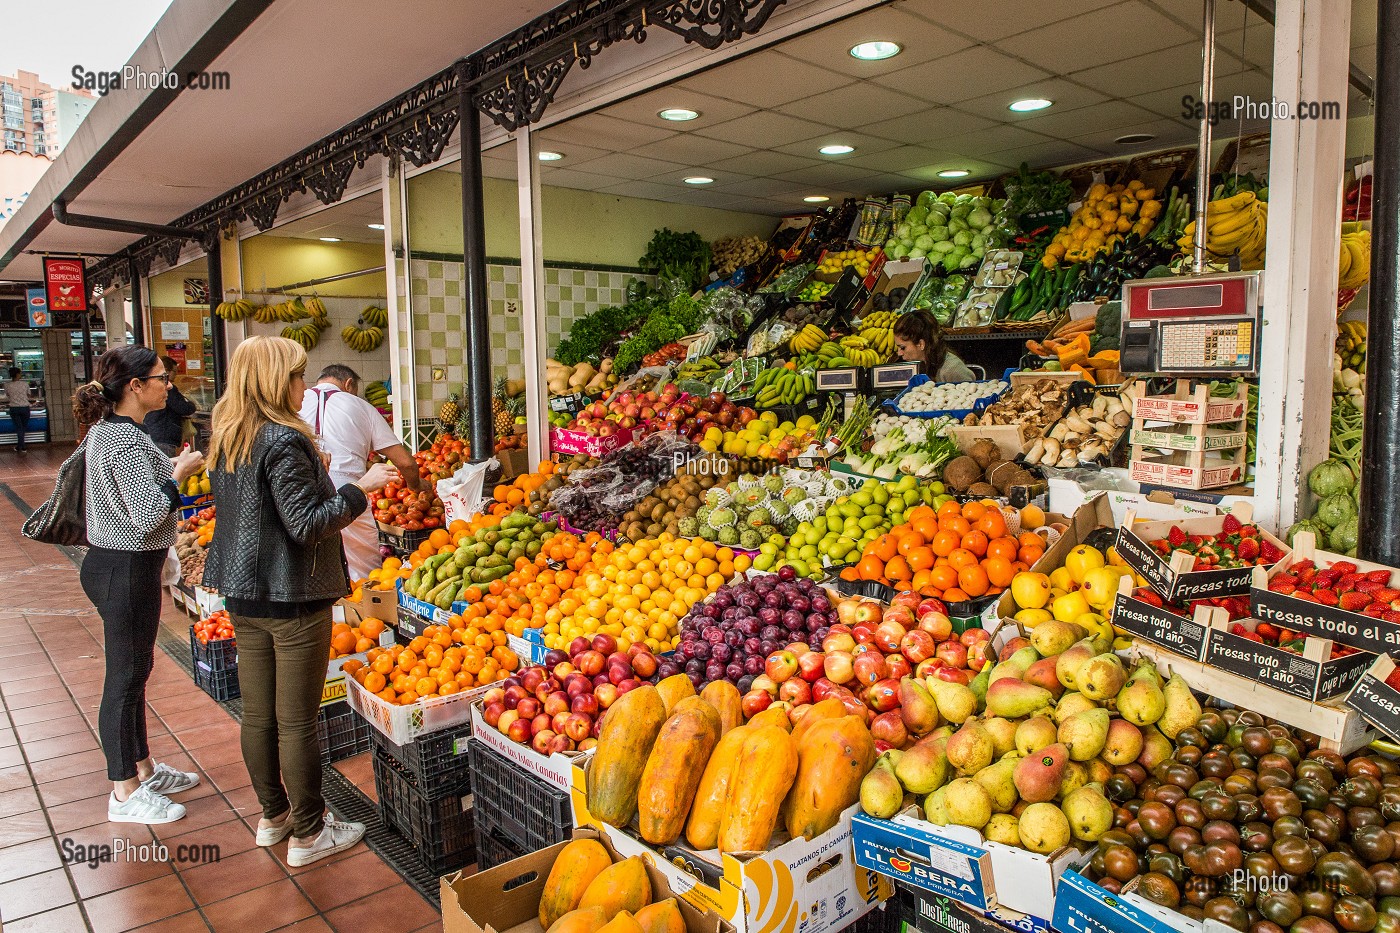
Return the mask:
[[483, 832], [498, 831], [525, 852], [547, 849], [574, 832], [566, 792], [531, 778], [480, 742], [472, 742], [472, 794]]

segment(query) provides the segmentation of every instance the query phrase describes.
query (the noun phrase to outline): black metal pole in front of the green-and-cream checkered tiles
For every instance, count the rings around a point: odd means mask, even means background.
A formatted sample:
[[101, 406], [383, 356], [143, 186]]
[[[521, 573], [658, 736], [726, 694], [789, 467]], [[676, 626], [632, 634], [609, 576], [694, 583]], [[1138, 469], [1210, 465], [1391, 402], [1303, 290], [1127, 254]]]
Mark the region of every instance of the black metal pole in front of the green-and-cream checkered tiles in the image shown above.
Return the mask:
[[472, 412], [472, 462], [496, 455], [491, 424], [491, 331], [486, 303], [486, 216], [482, 209], [482, 125], [463, 81], [458, 97], [462, 134], [462, 294], [466, 298], [466, 403]]

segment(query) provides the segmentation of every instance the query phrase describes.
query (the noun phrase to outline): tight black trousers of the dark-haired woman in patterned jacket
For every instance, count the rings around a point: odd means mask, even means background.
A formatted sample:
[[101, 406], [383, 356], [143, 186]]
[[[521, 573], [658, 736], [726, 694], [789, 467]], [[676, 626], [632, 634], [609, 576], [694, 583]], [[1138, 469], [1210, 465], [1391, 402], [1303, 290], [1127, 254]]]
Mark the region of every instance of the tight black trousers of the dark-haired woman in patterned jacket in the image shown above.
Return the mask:
[[165, 551], [90, 548], [78, 574], [102, 616], [106, 678], [97, 730], [109, 780], [136, 778], [136, 762], [151, 754], [146, 744], [146, 681], [155, 664], [164, 565]]

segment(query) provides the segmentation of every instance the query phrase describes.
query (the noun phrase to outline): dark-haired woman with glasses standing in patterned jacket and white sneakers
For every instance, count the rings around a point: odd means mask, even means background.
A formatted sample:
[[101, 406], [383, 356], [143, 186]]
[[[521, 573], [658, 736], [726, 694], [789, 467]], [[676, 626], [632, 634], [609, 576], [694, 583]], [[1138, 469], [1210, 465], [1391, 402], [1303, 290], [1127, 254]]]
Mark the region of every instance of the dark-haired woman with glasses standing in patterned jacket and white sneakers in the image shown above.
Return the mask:
[[144, 346], [98, 357], [91, 382], [73, 394], [73, 415], [87, 429], [87, 537], [83, 591], [102, 616], [106, 678], [98, 735], [106, 755], [111, 822], [172, 822], [185, 807], [168, 794], [199, 775], [151, 761], [146, 741], [146, 681], [161, 623], [161, 567], [175, 544], [179, 483], [203, 466], [199, 452], [171, 459], [141, 429], [165, 405], [169, 374]]

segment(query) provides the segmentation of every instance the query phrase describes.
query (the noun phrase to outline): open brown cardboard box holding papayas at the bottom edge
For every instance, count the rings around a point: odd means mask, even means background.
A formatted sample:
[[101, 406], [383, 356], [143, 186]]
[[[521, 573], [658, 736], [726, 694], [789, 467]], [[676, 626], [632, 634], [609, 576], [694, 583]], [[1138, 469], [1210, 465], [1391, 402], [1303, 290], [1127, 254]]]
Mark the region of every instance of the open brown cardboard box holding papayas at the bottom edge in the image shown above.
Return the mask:
[[[574, 839], [596, 839], [617, 859], [619, 853], [608, 836], [596, 829], [575, 829]], [[456, 871], [438, 881], [442, 899], [444, 933], [543, 933], [539, 925], [539, 899], [545, 894], [545, 880], [567, 842], [532, 852], [496, 866], [489, 871], [463, 874]], [[683, 898], [669, 884], [669, 878], [647, 863], [652, 902], [675, 897], [686, 920], [686, 933], [734, 933], [724, 920], [706, 913]]]

